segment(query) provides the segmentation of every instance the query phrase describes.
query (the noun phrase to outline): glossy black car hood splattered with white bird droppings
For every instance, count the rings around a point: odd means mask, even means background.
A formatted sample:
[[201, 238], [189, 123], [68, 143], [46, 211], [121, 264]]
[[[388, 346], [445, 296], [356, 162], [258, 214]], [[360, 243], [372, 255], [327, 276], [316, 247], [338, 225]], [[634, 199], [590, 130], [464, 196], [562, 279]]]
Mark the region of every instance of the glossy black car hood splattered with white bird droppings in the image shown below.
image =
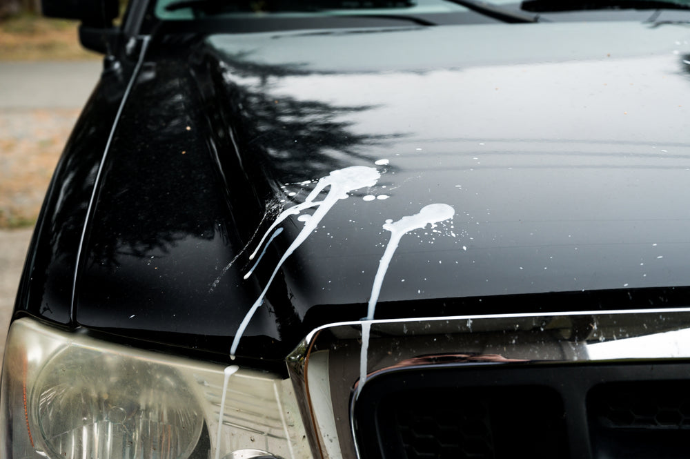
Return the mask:
[[75, 320], [279, 359], [366, 316], [682, 304], [688, 39], [640, 23], [160, 37], [103, 166]]

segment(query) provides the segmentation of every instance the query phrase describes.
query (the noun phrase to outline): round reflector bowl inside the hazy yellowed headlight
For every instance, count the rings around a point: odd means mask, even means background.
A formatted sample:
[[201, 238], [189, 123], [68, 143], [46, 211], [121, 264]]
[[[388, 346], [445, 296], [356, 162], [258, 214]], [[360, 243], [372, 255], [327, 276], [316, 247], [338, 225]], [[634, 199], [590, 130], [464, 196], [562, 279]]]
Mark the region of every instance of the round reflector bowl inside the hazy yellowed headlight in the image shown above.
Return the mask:
[[97, 349], [63, 349], [32, 389], [32, 424], [56, 457], [188, 458], [204, 416], [175, 369]]

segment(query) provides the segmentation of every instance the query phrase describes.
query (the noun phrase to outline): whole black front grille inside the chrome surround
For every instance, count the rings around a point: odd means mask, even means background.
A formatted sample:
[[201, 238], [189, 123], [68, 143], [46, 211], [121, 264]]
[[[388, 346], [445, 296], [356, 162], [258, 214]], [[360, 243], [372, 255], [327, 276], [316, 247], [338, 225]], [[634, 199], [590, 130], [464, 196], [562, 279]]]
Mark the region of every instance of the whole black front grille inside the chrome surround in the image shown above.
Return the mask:
[[357, 398], [362, 459], [690, 457], [690, 364], [442, 365]]

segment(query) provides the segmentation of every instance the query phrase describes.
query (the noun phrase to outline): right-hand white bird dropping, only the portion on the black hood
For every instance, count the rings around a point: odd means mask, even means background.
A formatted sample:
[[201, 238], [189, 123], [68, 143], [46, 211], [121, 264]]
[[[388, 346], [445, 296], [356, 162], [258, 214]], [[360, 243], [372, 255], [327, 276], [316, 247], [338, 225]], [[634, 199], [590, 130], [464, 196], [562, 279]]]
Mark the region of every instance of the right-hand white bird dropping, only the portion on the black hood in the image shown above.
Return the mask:
[[415, 215], [407, 215], [397, 222], [386, 221], [383, 227], [384, 230], [391, 232], [391, 240], [388, 241], [386, 251], [384, 251], [384, 255], [379, 261], [379, 268], [376, 271], [374, 284], [371, 288], [371, 297], [369, 297], [366, 320], [373, 320], [374, 318], [374, 311], [376, 302], [379, 299], [379, 293], [381, 292], [381, 285], [384, 282], [386, 271], [388, 271], [388, 265], [391, 264], [391, 260], [393, 259], [395, 249], [397, 249], [403, 235], [409, 231], [424, 228], [427, 224], [433, 225], [451, 219], [453, 215], [455, 215], [455, 209], [448, 204], [429, 204], [428, 206], [422, 207], [420, 213], [415, 213]]

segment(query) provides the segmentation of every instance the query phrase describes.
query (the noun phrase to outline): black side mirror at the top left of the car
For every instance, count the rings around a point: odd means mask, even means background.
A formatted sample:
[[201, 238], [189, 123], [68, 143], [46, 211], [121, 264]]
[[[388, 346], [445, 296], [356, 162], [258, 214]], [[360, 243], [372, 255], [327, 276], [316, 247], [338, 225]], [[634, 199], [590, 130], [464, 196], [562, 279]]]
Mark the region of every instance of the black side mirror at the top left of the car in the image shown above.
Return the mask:
[[119, 14], [118, 0], [41, 0], [43, 16], [79, 19], [79, 41], [84, 48], [106, 54], [119, 37], [112, 20]]

